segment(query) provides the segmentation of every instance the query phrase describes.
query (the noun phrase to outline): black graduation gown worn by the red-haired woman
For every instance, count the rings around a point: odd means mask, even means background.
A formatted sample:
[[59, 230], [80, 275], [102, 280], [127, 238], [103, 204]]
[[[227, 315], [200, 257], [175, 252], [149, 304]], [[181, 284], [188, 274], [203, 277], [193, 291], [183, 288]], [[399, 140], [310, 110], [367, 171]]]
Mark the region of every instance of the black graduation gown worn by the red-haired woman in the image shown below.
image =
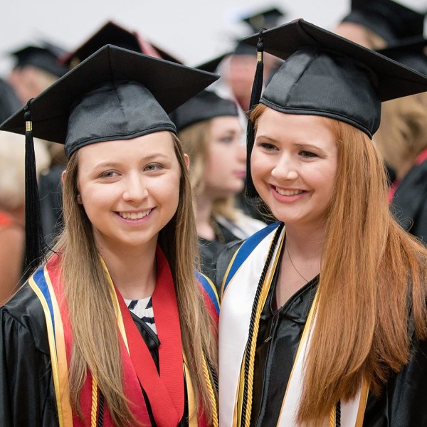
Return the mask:
[[[226, 270], [228, 260], [238, 245], [221, 253], [217, 280]], [[275, 310], [276, 277], [260, 317], [255, 353], [253, 407], [251, 426], [276, 426], [286, 386], [295, 360], [302, 331], [317, 290], [318, 277]], [[427, 342], [413, 339], [408, 364], [391, 376], [379, 397], [369, 394], [364, 427], [427, 426]]]

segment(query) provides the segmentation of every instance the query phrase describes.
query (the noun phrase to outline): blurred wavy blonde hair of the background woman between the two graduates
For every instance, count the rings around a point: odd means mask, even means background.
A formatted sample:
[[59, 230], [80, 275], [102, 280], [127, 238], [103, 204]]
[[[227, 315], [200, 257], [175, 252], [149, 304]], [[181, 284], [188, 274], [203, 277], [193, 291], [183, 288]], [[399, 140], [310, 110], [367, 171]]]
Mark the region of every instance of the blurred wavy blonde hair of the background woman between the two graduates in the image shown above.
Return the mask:
[[[184, 151], [190, 157], [190, 182], [195, 196], [204, 191], [204, 174], [209, 157], [211, 126], [211, 120], [204, 120], [179, 132], [179, 139], [184, 145]], [[212, 214], [224, 216], [230, 221], [236, 220], [237, 212], [233, 196], [216, 199], [212, 206]]]

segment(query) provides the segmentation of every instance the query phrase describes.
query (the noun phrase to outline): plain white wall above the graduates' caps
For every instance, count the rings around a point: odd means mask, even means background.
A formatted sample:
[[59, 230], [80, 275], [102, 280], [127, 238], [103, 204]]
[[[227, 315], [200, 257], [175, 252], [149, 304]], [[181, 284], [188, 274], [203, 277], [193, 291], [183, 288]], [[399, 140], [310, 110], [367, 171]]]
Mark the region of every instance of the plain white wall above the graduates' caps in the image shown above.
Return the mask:
[[8, 51], [46, 38], [73, 50], [108, 19], [170, 51], [189, 65], [214, 58], [246, 35], [238, 16], [277, 6], [285, 21], [304, 18], [331, 29], [350, 0], [1, 0], [0, 75], [11, 67]]

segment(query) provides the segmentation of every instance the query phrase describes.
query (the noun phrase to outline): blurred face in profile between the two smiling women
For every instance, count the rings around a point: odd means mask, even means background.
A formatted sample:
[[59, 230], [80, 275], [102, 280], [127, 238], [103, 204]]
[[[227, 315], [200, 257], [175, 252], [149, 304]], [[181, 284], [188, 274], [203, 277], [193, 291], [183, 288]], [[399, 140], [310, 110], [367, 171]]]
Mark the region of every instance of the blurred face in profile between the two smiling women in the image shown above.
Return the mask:
[[204, 193], [223, 199], [243, 190], [246, 176], [246, 147], [242, 144], [238, 117], [211, 120], [204, 174]]

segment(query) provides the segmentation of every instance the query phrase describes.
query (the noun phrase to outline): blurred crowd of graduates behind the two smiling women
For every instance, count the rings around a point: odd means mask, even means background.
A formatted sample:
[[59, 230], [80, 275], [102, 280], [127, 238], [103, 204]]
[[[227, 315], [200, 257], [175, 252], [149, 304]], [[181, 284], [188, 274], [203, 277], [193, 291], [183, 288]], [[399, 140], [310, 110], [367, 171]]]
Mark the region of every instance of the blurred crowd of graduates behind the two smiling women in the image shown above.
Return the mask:
[[[398, 1], [353, 0], [347, 16], [330, 31], [427, 74], [424, 19], [425, 13], [408, 9]], [[261, 10], [242, 20], [247, 24], [248, 36], [287, 21], [286, 11], [279, 8]], [[28, 40], [28, 46], [11, 52], [14, 66], [0, 80], [0, 122], [106, 44], [180, 63], [179, 52], [164, 51], [132, 28], [122, 28], [112, 21], [93, 28], [93, 33], [70, 52], [55, 46], [54, 41]], [[226, 245], [250, 236], [271, 221], [268, 212], [248, 201], [243, 191], [246, 122], [256, 55], [255, 48], [236, 41], [231, 51], [200, 64], [197, 68], [221, 78], [171, 114], [190, 157], [199, 262], [211, 278], [216, 257]], [[264, 84], [282, 62], [265, 53]], [[0, 133], [0, 305], [26, 277], [24, 139]], [[406, 231], [426, 242], [427, 93], [384, 102], [381, 127], [373, 142], [389, 172], [390, 209]], [[60, 178], [66, 165], [63, 146], [36, 141], [36, 160], [43, 238], [48, 251], [62, 226]]]

